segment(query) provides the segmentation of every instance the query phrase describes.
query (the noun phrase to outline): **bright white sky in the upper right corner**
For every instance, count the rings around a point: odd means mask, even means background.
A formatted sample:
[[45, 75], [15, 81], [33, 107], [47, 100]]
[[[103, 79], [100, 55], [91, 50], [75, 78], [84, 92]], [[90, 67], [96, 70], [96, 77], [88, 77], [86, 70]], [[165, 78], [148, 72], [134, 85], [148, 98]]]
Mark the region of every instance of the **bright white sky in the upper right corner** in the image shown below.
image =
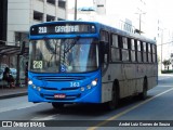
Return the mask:
[[[145, 0], [147, 2], [147, 26], [148, 30], [151, 31], [152, 26], [158, 27], [158, 23], [155, 21], [159, 20], [159, 31], [158, 34], [163, 35], [163, 42], [172, 40], [173, 37], [173, 0]], [[155, 28], [156, 28], [155, 27]], [[150, 32], [148, 31], [148, 34]]]

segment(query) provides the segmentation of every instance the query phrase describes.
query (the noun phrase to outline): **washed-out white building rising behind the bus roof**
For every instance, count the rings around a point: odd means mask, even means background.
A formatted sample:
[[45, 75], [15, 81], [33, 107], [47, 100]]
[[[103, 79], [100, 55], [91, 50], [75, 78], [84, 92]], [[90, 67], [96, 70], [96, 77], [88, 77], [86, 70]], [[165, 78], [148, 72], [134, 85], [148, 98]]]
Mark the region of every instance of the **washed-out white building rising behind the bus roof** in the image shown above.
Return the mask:
[[[95, 21], [130, 32], [145, 31], [146, 3], [144, 0], [89, 0], [82, 2], [77, 0], [77, 21]], [[68, 4], [70, 5], [68, 5], [67, 20], [75, 20], [75, 0], [70, 0]]]

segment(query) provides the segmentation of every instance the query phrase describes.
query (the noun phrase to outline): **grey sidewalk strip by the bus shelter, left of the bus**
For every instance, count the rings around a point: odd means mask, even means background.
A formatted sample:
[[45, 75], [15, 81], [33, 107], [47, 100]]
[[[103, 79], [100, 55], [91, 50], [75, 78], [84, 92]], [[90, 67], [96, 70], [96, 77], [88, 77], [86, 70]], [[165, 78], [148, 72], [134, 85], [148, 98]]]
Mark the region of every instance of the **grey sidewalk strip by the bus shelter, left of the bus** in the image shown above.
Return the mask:
[[2, 88], [0, 87], [0, 100], [27, 95], [27, 87]]

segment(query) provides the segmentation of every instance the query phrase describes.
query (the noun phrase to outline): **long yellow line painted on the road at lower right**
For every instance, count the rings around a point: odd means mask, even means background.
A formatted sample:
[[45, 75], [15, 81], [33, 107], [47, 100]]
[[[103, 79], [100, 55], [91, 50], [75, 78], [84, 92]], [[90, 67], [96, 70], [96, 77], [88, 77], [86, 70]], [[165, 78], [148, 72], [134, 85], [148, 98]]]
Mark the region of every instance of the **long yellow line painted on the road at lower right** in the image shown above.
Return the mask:
[[120, 116], [122, 116], [122, 115], [124, 115], [124, 114], [127, 114], [127, 113], [129, 113], [129, 112], [131, 112], [131, 110], [133, 110], [133, 109], [135, 109], [135, 108], [137, 108], [137, 107], [139, 107], [139, 106], [142, 106], [142, 105], [144, 105], [146, 103], [148, 103], [149, 101], [151, 101], [151, 100], [154, 100], [154, 99], [156, 99], [156, 98], [158, 98], [158, 96], [160, 96], [160, 95], [162, 95], [164, 93], [168, 93], [168, 92], [172, 91], [172, 90], [173, 90], [173, 88], [171, 88], [171, 89], [169, 89], [169, 90], [167, 90], [167, 91], [164, 91], [162, 93], [159, 93], [159, 94], [157, 94], [157, 95], [155, 95], [155, 96], [152, 96], [152, 98], [150, 98], [150, 99], [148, 99], [148, 100], [146, 100], [146, 101], [144, 101], [142, 103], [138, 103], [135, 106], [132, 106], [132, 107], [128, 108], [127, 110], [121, 112], [121, 113], [119, 113], [119, 114], [106, 119], [105, 121], [102, 121], [102, 122], [95, 125], [94, 127], [90, 127], [88, 130], [95, 130], [98, 127], [102, 127], [102, 126], [108, 123], [109, 121], [115, 120], [115, 119], [119, 118]]

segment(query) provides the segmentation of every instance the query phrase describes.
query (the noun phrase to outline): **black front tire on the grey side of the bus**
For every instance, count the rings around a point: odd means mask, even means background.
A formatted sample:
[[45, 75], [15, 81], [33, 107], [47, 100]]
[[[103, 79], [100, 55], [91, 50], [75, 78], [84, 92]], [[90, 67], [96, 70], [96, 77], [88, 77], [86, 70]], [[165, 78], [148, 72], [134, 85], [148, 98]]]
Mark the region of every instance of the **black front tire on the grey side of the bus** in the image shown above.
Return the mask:
[[111, 99], [112, 100], [107, 103], [107, 106], [108, 106], [109, 110], [115, 109], [119, 104], [120, 96], [119, 96], [119, 83], [118, 83], [118, 81], [114, 82], [112, 91], [111, 91]]

